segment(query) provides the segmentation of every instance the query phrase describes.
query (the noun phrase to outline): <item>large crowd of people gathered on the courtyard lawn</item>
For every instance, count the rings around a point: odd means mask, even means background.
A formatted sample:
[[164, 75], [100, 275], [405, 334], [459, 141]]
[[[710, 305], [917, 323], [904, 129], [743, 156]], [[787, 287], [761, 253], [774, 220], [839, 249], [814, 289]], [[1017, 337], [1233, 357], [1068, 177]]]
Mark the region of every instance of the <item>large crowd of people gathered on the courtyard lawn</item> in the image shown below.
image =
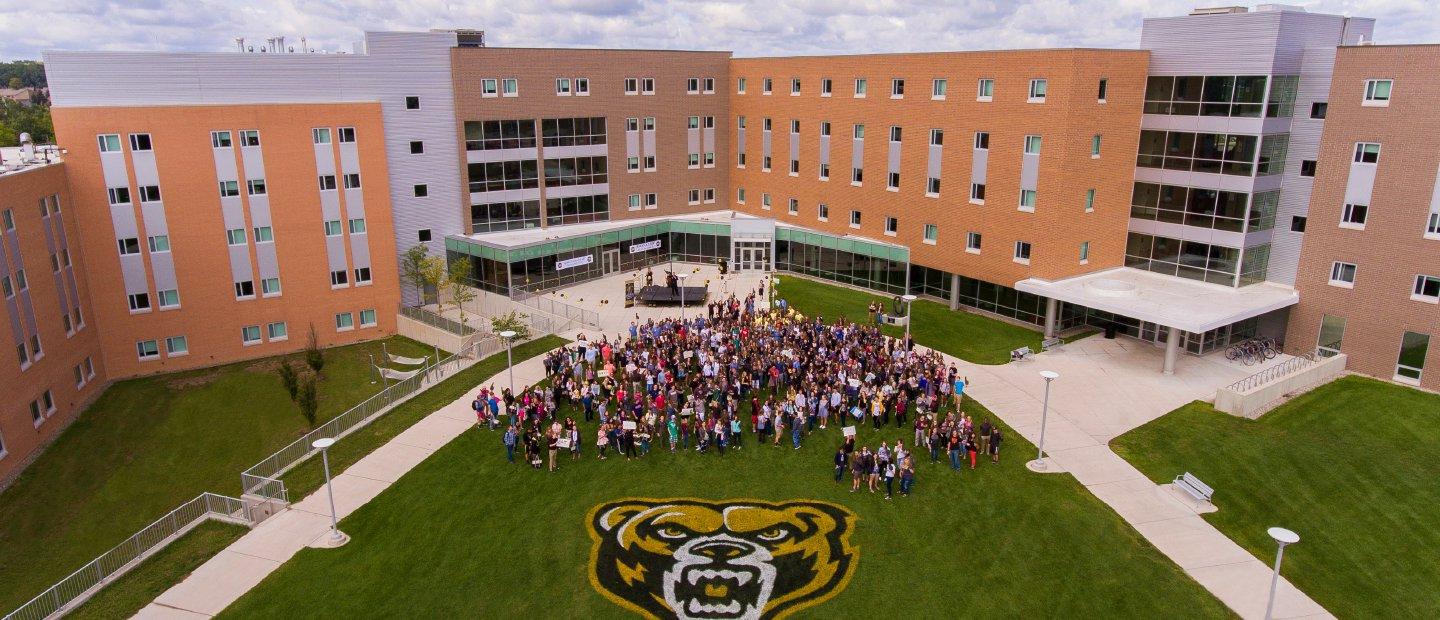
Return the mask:
[[[937, 352], [886, 338], [878, 325], [757, 309], [759, 299], [763, 289], [708, 302], [687, 319], [636, 319], [628, 337], [582, 334], [544, 355], [547, 384], [520, 394], [482, 388], [477, 419], [504, 426], [510, 462], [550, 470], [580, 459], [582, 445], [600, 460], [655, 449], [723, 456], [747, 445], [799, 450], [840, 426], [835, 482], [848, 472], [851, 492], [883, 486], [886, 499], [896, 478], [910, 493], [926, 450], [932, 463], [948, 455], [956, 472], [975, 469], [981, 455], [999, 462], [999, 426], [965, 414], [968, 380]], [[566, 403], [573, 414], [560, 417]], [[593, 434], [582, 430], [592, 423]], [[914, 440], [857, 445], [865, 424], [912, 429]]]

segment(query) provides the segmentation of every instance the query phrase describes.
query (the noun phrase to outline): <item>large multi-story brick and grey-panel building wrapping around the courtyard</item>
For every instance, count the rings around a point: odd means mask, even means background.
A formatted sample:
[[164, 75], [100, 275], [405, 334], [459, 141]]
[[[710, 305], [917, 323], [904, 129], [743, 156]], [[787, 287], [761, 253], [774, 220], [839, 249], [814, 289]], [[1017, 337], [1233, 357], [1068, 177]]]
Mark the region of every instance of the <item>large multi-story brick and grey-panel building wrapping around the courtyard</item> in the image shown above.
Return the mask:
[[[1045, 335], [1110, 328], [1164, 345], [1165, 371], [1287, 324], [1297, 352], [1344, 332], [1355, 368], [1433, 386], [1440, 199], [1407, 193], [1440, 165], [1421, 104], [1436, 55], [1352, 47], [1372, 29], [1260, 6], [1145, 20], [1135, 50], [733, 59], [455, 30], [367, 33], [353, 53], [53, 52], [68, 161], [43, 174], [78, 283], [49, 315], [89, 275], [94, 308], [63, 319], [91, 325], [73, 355], [130, 377], [292, 351], [311, 325], [323, 345], [390, 334], [422, 296], [397, 275], [416, 245], [507, 295], [724, 257]], [[36, 200], [10, 186], [7, 209]], [[1408, 296], [1369, 302], [1387, 291]], [[7, 306], [10, 371], [43, 394], [78, 361], [16, 370], [37, 329], [58, 338], [26, 308]], [[26, 420], [0, 420], [7, 446]]]

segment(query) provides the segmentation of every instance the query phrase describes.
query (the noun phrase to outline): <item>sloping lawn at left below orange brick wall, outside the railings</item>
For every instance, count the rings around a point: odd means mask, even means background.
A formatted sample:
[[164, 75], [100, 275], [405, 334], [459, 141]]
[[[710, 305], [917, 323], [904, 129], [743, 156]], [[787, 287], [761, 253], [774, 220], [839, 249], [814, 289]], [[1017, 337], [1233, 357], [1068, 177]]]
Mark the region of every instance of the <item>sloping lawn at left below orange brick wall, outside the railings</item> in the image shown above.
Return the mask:
[[[432, 350], [403, 338], [390, 352]], [[380, 342], [325, 351], [320, 417], [364, 400]], [[291, 358], [300, 360], [300, 355]], [[0, 493], [0, 610], [30, 600], [203, 491], [305, 432], [275, 358], [118, 381]]]

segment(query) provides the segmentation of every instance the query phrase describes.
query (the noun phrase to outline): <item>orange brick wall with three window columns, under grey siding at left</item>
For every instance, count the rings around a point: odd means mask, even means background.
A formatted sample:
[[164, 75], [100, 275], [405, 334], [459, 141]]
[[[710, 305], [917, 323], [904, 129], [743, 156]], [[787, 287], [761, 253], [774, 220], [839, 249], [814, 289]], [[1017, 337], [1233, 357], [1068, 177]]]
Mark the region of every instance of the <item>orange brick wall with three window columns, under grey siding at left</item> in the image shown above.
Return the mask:
[[[94, 314], [96, 324], [102, 325], [101, 342], [111, 377], [168, 373], [297, 351], [304, 348], [311, 324], [324, 347], [395, 332], [399, 276], [379, 104], [56, 108], [53, 117], [59, 144], [69, 150], [66, 168], [79, 224], [75, 239], [84, 240]], [[330, 289], [311, 138], [311, 128], [315, 127], [356, 128], [372, 257], [370, 286]], [[282, 286], [279, 296], [235, 299], [210, 147], [213, 129], [261, 131]], [[95, 135], [121, 134], [125, 140], [128, 132], [148, 132], [154, 144], [181, 302], [174, 311], [131, 315], [125, 301]], [[135, 196], [128, 145], [125, 157], [131, 194]], [[135, 211], [138, 219], [138, 206]], [[138, 223], [148, 273], [144, 222]], [[249, 222], [246, 224], [251, 227]], [[348, 232], [346, 234], [348, 253]], [[252, 243], [252, 260], [253, 252]], [[153, 281], [150, 295], [154, 299]], [[359, 328], [359, 312], [372, 308], [379, 325]], [[336, 332], [337, 312], [354, 312], [356, 329]], [[274, 321], [288, 324], [288, 341], [242, 344], [242, 327], [258, 324], [264, 329], [266, 322]], [[171, 335], [187, 338], [189, 355], [170, 358], [161, 354], [153, 361], [137, 360], [137, 341], [156, 338], [163, 351], [164, 338]]]

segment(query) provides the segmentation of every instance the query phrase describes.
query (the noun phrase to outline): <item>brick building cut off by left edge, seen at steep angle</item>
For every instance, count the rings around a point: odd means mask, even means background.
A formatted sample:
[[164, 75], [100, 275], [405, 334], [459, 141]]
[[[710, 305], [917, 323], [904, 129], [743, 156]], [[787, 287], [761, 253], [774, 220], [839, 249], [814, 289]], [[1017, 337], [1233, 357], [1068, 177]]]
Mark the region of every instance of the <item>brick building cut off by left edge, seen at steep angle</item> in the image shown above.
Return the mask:
[[0, 168], [0, 486], [107, 381], [66, 164], [29, 158], [4, 152]]

